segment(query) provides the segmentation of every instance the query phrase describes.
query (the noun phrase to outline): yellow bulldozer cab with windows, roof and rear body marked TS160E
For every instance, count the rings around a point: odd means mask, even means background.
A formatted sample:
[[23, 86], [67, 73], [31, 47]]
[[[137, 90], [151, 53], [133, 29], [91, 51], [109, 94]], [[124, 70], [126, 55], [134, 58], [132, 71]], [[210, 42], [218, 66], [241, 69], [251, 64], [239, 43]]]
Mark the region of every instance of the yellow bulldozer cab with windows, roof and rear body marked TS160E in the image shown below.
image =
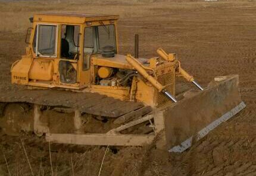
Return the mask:
[[[113, 47], [117, 53], [117, 18], [75, 13], [35, 15], [27, 55], [23, 56], [27, 59], [18, 62], [23, 66], [13, 67], [13, 83], [73, 89], [86, 87], [92, 81], [90, 57], [101, 53], [106, 46]], [[29, 62], [28, 68], [25, 65]], [[24, 68], [24, 76], [15, 68]]]

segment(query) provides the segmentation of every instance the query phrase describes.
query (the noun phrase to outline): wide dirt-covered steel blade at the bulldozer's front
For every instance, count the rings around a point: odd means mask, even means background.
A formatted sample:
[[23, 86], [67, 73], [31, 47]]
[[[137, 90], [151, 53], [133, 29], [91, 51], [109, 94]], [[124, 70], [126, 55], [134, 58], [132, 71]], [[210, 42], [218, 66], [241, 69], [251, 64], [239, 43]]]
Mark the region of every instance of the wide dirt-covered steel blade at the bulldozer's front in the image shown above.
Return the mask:
[[238, 75], [218, 76], [204, 91], [187, 92], [163, 111], [169, 152], [183, 152], [223, 121], [245, 108]]

